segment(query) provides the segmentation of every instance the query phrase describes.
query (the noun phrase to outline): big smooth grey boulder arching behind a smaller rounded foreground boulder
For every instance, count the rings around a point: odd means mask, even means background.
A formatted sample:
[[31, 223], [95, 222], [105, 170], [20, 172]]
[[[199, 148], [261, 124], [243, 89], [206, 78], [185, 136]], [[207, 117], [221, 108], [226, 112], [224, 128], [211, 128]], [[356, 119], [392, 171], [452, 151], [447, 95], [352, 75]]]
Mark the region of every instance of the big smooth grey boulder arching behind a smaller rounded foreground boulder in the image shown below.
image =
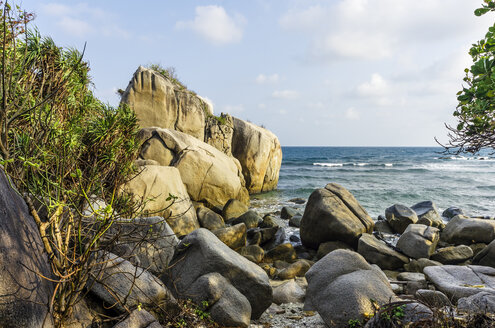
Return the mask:
[[203, 228], [184, 237], [162, 279], [178, 297], [188, 298], [194, 292], [189, 287], [213, 272], [222, 275], [249, 301], [251, 318], [259, 318], [272, 303], [272, 288], [265, 271]]

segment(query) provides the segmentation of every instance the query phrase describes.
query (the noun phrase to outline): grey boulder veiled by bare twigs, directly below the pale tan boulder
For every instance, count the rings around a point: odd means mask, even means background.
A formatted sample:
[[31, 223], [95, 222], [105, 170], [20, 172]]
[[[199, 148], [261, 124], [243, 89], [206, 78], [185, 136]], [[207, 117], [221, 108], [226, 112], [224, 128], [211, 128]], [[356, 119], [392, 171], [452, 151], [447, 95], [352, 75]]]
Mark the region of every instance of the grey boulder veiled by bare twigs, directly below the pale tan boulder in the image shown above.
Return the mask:
[[159, 216], [116, 220], [108, 236], [117, 240], [110, 245], [113, 253], [155, 275], [165, 272], [179, 244], [170, 226]]

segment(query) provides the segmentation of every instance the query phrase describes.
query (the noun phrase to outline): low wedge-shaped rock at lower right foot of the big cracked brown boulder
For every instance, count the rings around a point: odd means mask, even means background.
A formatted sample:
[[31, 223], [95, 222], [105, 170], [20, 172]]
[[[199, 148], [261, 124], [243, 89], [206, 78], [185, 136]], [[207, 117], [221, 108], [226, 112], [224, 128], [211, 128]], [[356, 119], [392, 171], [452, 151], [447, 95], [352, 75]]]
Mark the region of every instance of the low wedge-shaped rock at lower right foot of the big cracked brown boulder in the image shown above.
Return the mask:
[[359, 238], [358, 253], [366, 261], [378, 265], [383, 270], [396, 270], [409, 262], [409, 258], [394, 251], [373, 235], [363, 233]]

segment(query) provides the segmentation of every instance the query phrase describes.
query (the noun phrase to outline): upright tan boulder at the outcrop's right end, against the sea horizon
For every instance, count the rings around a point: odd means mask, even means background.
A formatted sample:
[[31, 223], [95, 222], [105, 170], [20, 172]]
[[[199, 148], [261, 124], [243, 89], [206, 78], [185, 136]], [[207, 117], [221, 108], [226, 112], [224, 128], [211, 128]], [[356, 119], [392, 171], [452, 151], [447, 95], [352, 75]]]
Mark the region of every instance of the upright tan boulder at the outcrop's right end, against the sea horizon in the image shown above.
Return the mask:
[[250, 193], [277, 187], [282, 148], [272, 132], [234, 117], [232, 154], [241, 163]]

